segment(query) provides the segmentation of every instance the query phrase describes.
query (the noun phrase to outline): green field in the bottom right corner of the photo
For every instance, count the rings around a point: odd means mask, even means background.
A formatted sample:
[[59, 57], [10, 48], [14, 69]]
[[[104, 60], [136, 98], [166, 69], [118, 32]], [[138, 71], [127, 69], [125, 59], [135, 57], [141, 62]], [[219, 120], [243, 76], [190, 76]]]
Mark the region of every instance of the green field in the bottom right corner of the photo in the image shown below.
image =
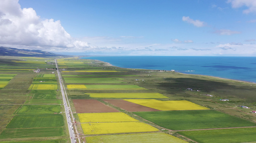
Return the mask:
[[178, 132], [198, 143], [255, 143], [256, 128]]

